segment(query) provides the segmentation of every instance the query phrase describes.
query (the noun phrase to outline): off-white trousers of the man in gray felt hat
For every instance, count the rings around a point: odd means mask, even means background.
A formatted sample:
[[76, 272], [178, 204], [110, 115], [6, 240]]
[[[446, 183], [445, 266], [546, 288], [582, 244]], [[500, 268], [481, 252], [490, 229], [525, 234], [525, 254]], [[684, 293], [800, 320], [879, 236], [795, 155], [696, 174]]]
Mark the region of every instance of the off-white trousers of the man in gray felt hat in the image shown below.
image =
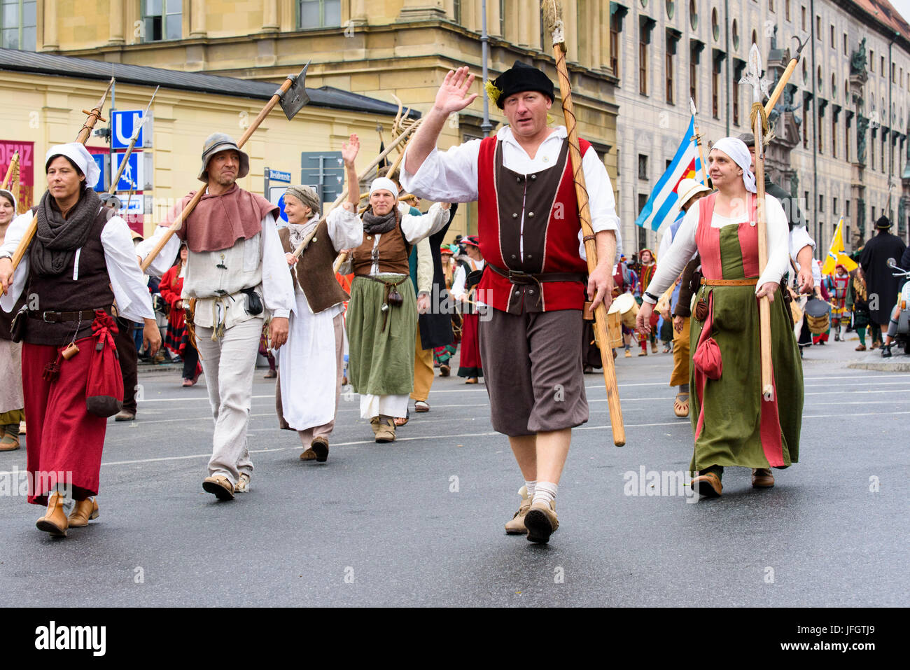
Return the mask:
[[242, 321], [225, 330], [224, 337], [214, 342], [213, 329], [198, 326], [196, 329], [208, 401], [215, 418], [208, 473], [224, 475], [231, 484], [237, 484], [240, 472], [253, 472], [247, 429], [262, 324], [261, 318]]

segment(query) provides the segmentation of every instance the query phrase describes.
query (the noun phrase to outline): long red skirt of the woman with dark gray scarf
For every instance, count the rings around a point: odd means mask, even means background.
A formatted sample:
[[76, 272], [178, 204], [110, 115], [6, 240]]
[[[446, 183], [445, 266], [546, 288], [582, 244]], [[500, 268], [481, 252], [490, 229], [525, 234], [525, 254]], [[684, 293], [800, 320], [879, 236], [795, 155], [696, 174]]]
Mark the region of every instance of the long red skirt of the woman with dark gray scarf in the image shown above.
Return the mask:
[[63, 347], [28, 342], [22, 346], [29, 503], [46, 505], [47, 493], [58, 483], [69, 485], [76, 500], [98, 492], [107, 419], [86, 410], [95, 338], [76, 340], [76, 346], [79, 353], [61, 361], [54, 381], [45, 381], [42, 374]]

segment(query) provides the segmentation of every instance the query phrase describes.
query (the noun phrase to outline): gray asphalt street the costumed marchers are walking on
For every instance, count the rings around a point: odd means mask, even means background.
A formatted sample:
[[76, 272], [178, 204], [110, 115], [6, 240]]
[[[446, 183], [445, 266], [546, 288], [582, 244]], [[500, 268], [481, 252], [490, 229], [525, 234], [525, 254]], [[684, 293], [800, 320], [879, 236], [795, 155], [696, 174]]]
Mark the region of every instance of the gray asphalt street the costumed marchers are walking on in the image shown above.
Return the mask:
[[[258, 371], [251, 491], [218, 503], [202, 491], [204, 378], [183, 389], [176, 368], [144, 370], [138, 420], [108, 425], [96, 522], [55, 540], [35, 529], [42, 507], [0, 497], [0, 603], [906, 606], [910, 376], [847, 368], [854, 346], [806, 352], [800, 462], [770, 490], [728, 468], [723, 496], [698, 503], [672, 485], [693, 445], [672, 413], [672, 356], [617, 360], [622, 448], [602, 376], [586, 375], [591, 420], [573, 433], [549, 545], [503, 531], [522, 481], [482, 384], [437, 378], [431, 411], [388, 445], [346, 397], [315, 463], [278, 430]], [[14, 468], [25, 449], [0, 453]]]

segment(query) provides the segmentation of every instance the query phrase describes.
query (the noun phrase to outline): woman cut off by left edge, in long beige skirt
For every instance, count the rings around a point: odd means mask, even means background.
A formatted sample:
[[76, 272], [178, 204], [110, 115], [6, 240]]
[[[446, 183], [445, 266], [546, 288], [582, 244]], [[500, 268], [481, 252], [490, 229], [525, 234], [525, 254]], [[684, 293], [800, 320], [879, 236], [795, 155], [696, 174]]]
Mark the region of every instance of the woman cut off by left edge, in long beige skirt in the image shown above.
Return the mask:
[[[0, 188], [0, 239], [15, 218], [16, 201], [12, 191]], [[22, 342], [14, 342], [10, 335], [13, 314], [22, 307], [24, 299], [13, 312], [0, 311], [0, 452], [13, 452], [19, 448], [19, 423], [25, 421], [22, 410]]]

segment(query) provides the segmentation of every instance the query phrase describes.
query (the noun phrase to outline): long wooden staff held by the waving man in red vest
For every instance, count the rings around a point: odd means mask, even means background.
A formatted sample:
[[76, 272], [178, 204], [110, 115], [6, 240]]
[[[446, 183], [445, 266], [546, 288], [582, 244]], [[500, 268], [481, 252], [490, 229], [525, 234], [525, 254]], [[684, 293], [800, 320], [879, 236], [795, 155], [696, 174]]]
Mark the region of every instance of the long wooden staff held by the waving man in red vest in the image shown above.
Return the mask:
[[[594, 244], [594, 231], [591, 228], [591, 208], [588, 206], [588, 190], [585, 188], [584, 171], [581, 168], [581, 148], [578, 141], [578, 128], [575, 120], [575, 109], [571, 99], [571, 82], [566, 67], [565, 38], [562, 28], [562, 9], [556, 0], [544, 0], [543, 15], [553, 36], [553, 56], [556, 58], [556, 71], [560, 80], [562, 113], [569, 134], [569, 156], [571, 157], [572, 176], [575, 180], [575, 198], [578, 199], [578, 213], [581, 219], [581, 232], [584, 236], [584, 250], [588, 257], [588, 272], [597, 268], [597, 246]], [[610, 426], [613, 431], [613, 443], [617, 447], [625, 444], [625, 426], [622, 423], [619, 385], [616, 382], [616, 369], [613, 367], [612, 348], [607, 333], [607, 310], [603, 303], [594, 310], [594, 337], [598, 342], [603, 363], [603, 381], [607, 388], [607, 403], [610, 407]]]

